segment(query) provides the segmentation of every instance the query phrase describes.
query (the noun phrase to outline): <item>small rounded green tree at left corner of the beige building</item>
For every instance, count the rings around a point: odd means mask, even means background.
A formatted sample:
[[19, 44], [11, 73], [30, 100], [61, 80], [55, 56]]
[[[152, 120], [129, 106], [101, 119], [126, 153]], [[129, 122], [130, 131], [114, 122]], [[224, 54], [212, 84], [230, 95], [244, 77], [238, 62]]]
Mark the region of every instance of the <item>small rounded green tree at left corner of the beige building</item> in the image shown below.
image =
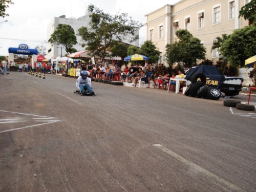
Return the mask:
[[151, 40], [146, 40], [141, 46], [139, 53], [148, 57], [148, 62], [157, 63], [160, 56], [160, 51], [157, 50], [157, 47], [153, 44]]

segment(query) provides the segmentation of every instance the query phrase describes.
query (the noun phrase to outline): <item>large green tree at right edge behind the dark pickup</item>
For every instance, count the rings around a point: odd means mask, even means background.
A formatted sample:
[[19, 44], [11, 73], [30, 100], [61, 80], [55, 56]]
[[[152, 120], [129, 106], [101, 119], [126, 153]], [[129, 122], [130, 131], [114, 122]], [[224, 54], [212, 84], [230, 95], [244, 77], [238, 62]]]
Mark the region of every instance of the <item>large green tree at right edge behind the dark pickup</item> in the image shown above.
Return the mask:
[[223, 42], [220, 51], [233, 67], [244, 67], [245, 60], [256, 55], [256, 27], [246, 26], [235, 30]]

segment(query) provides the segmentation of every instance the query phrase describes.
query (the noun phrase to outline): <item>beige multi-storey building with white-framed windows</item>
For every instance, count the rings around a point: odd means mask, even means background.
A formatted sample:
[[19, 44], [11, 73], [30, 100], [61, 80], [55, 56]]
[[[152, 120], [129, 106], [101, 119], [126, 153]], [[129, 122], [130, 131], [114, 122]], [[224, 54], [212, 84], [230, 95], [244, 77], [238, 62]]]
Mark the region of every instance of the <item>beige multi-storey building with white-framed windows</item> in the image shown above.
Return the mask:
[[177, 39], [175, 32], [188, 30], [201, 40], [206, 48], [206, 58], [216, 63], [220, 58], [218, 49], [211, 51], [216, 37], [231, 34], [235, 29], [248, 25], [248, 20], [238, 18], [241, 8], [250, 0], [182, 0], [165, 5], [147, 15], [146, 39], [152, 40], [160, 51], [158, 63], [165, 63], [165, 46]]

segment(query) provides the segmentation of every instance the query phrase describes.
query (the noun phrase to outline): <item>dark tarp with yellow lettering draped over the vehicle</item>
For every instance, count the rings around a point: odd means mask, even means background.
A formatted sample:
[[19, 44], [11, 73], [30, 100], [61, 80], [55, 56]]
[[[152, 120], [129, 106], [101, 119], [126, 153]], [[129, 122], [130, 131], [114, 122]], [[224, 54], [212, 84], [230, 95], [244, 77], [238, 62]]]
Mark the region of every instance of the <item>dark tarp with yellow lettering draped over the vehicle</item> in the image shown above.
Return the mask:
[[225, 77], [220, 74], [216, 66], [204, 66], [204, 65], [189, 69], [185, 79], [189, 80], [191, 76], [193, 76], [196, 73], [203, 73], [206, 76], [207, 78], [206, 84], [209, 87], [220, 88], [221, 82], [225, 80]]

